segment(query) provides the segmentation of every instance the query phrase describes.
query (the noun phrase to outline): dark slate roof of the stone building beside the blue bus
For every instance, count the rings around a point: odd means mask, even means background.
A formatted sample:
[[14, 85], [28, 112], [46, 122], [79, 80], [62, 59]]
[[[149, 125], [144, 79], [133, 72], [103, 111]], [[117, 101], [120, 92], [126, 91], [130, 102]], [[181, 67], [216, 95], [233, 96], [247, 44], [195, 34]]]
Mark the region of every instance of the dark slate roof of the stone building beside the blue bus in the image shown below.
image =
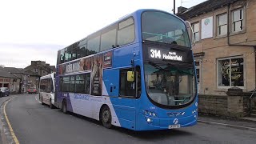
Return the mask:
[[208, 0], [206, 2], [202, 2], [196, 6], [190, 7], [188, 10], [182, 12], [182, 14], [177, 14], [178, 17], [186, 20], [189, 18], [193, 18], [199, 14], [206, 13], [211, 10], [215, 10], [221, 8], [221, 6], [226, 6], [229, 3], [236, 2], [238, 0]]

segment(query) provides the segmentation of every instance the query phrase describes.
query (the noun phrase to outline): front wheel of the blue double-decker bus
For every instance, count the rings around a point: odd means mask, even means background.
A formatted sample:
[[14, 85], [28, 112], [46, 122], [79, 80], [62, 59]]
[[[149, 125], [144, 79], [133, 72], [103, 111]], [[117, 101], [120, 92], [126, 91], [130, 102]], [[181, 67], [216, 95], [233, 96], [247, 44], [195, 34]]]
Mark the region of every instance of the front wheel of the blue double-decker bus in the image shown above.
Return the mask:
[[108, 106], [104, 106], [101, 112], [102, 125], [108, 129], [112, 126], [112, 116], [110, 112], [110, 108]]

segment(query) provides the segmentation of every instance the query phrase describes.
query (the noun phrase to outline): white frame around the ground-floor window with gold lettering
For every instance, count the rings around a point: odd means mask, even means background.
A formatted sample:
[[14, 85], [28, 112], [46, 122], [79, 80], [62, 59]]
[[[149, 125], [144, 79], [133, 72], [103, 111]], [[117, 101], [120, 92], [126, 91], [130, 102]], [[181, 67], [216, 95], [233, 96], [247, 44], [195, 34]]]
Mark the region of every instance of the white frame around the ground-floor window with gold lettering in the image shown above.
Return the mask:
[[[231, 85], [231, 82], [232, 82], [232, 80], [230, 79], [230, 86], [218, 86], [218, 82], [219, 82], [219, 80], [218, 80], [218, 78], [219, 78], [219, 71], [218, 71], [218, 66], [219, 66], [219, 62], [218, 61], [222, 61], [222, 60], [230, 60], [231, 61], [231, 59], [235, 59], [235, 58], [242, 58], [243, 59], [243, 74], [242, 74], [242, 77], [243, 77], [243, 86], [232, 86]], [[217, 70], [217, 87], [218, 88], [220, 88], [220, 89], [229, 89], [229, 88], [231, 88], [231, 87], [238, 87], [238, 88], [241, 88], [241, 89], [245, 89], [245, 85], [246, 85], [246, 82], [245, 82], [245, 80], [246, 80], [246, 74], [245, 74], [245, 70], [246, 70], [246, 58], [244, 58], [242, 55], [241, 56], [234, 56], [234, 57], [227, 57], [227, 58], [217, 58], [217, 68], [216, 68], [216, 70]], [[230, 75], [231, 75], [231, 70], [230, 70]]]

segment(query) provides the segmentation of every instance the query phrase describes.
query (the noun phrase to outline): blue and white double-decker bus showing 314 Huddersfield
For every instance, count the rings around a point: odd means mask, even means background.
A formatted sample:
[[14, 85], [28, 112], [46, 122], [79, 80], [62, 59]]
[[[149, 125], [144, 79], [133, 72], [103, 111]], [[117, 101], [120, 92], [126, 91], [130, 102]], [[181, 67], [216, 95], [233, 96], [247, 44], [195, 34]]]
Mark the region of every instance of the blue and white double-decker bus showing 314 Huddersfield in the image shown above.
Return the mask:
[[137, 10], [58, 50], [54, 104], [107, 128], [193, 126], [198, 94], [186, 29], [173, 14]]

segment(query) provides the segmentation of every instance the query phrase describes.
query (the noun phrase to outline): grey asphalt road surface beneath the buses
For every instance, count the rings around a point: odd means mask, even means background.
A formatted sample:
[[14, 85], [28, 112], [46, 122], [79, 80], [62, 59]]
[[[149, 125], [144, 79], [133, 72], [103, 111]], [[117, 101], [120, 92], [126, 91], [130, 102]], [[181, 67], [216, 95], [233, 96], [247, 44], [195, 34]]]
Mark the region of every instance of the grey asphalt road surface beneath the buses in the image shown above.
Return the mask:
[[118, 127], [106, 129], [90, 118], [42, 106], [36, 97], [36, 94], [18, 95], [6, 105], [20, 143], [256, 143], [256, 132], [204, 123], [177, 130], [137, 133]]

